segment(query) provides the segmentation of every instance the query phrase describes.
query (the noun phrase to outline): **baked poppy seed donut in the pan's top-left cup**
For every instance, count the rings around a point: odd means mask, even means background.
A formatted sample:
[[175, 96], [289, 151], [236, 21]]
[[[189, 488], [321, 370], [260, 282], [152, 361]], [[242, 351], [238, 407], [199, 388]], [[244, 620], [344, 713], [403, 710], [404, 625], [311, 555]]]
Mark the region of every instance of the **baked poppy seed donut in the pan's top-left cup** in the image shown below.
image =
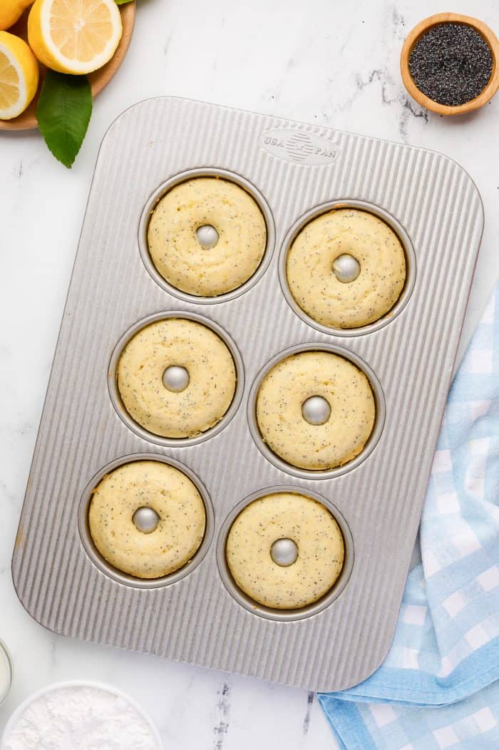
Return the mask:
[[218, 177], [193, 178], [168, 190], [152, 211], [147, 236], [161, 276], [182, 292], [204, 297], [248, 281], [267, 241], [257, 202]]

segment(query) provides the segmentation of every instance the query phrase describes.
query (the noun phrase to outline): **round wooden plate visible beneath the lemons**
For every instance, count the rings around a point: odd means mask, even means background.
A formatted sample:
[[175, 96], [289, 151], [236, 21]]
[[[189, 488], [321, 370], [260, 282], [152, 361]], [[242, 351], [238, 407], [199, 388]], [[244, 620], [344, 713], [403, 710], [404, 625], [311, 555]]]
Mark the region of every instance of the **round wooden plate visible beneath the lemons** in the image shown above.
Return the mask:
[[[9, 28], [13, 34], [17, 34], [18, 37], [27, 39], [28, 37], [28, 16], [29, 10], [23, 14], [23, 17], [12, 27]], [[113, 76], [118, 71], [119, 66], [122, 64], [125, 55], [130, 46], [131, 35], [134, 31], [135, 23], [135, 3], [129, 2], [125, 5], [119, 6], [119, 11], [122, 14], [123, 34], [119, 42], [118, 48], [114, 53], [113, 57], [104, 68], [100, 68], [98, 71], [89, 74], [90, 85], [92, 86], [92, 95], [96, 97], [101, 93]], [[12, 120], [0, 120], [0, 130], [33, 130], [38, 127], [38, 120], [36, 118], [36, 108], [38, 104], [38, 97], [41, 92], [41, 83], [44, 78], [44, 66], [40, 65], [40, 85], [38, 86], [38, 92], [35, 95], [35, 99], [29, 105], [28, 109], [25, 110], [19, 117], [14, 117]]]

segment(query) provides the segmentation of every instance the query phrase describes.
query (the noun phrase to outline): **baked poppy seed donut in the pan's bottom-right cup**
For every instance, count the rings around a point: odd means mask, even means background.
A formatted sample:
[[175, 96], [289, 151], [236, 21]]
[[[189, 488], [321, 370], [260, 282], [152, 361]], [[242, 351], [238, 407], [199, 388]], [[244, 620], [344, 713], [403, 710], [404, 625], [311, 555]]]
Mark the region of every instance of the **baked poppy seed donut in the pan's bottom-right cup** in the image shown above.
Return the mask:
[[324, 505], [281, 492], [246, 505], [230, 527], [225, 552], [246, 595], [266, 607], [298, 609], [331, 589], [343, 567], [344, 541]]

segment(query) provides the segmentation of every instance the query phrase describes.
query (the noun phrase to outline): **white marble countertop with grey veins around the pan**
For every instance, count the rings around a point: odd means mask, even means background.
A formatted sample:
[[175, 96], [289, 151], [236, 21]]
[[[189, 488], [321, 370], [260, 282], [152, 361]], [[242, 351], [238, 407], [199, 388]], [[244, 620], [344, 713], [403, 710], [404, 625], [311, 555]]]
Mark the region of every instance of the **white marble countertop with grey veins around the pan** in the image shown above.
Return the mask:
[[[483, 110], [440, 118], [404, 92], [398, 56], [407, 31], [439, 12], [472, 12], [499, 32], [497, 0], [138, 0], [131, 50], [95, 103], [74, 169], [41, 137], [0, 136], [0, 637], [14, 687], [0, 730], [35, 689], [59, 679], [119, 686], [149, 709], [165, 748], [335, 748], [312, 694], [160, 658], [57, 637], [32, 621], [11, 582], [11, 550], [44, 392], [89, 192], [107, 126], [129, 105], [179, 95], [327, 124], [443, 151], [473, 177], [485, 234], [461, 353], [499, 268], [499, 95]], [[70, 750], [70, 748], [68, 748]]]

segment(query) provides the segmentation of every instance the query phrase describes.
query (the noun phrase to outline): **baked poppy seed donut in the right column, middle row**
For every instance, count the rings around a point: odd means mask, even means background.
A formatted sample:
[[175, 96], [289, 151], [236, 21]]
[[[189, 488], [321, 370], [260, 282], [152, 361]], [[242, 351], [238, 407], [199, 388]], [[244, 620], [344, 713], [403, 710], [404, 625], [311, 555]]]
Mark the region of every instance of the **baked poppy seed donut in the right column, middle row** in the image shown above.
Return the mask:
[[257, 424], [264, 442], [300, 469], [332, 469], [355, 458], [371, 434], [374, 415], [374, 395], [365, 374], [329, 352], [281, 359], [257, 393]]

